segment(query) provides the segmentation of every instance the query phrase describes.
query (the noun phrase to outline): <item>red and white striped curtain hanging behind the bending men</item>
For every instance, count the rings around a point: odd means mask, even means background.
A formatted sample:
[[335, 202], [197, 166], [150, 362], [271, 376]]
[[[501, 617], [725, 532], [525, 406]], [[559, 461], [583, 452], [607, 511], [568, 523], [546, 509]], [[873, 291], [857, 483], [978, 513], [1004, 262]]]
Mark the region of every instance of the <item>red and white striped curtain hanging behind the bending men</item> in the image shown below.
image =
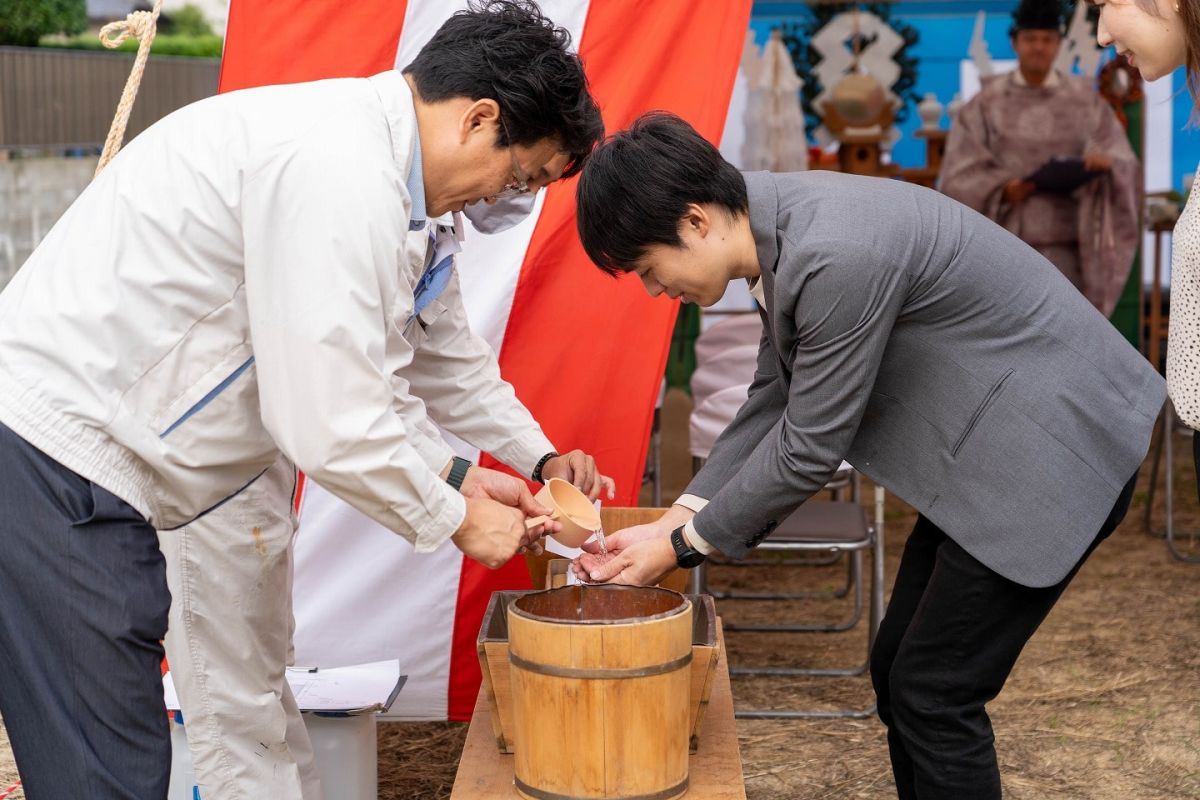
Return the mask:
[[[571, 31], [608, 131], [667, 109], [720, 140], [751, 0], [540, 5]], [[464, 6], [233, 0], [221, 91], [402, 68]], [[575, 231], [574, 181], [540, 193], [530, 217], [511, 230], [468, 230], [458, 270], [473, 329], [499, 353], [505, 379], [550, 439], [595, 455], [617, 480], [614, 504], [636, 505], [676, 305], [592, 266]], [[494, 465], [486, 453], [452, 444]], [[296, 662], [398, 657], [409, 680], [392, 716], [469, 718], [484, 608], [494, 590], [529, 587], [523, 559], [488, 571], [450, 543], [419, 557], [316, 485], [299, 503]]]

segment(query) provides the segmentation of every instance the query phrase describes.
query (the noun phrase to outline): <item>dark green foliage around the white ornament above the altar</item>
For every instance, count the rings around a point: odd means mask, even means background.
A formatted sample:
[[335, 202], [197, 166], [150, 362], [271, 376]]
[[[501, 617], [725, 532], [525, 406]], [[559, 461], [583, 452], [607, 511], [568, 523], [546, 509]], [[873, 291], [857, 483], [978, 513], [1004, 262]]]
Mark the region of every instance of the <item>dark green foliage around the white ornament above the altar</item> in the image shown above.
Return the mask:
[[[896, 125], [899, 125], [908, 118], [911, 109], [920, 102], [920, 97], [914, 90], [917, 85], [918, 62], [912, 55], [912, 46], [917, 43], [920, 35], [916, 28], [906, 25], [893, 17], [893, 5], [890, 2], [863, 2], [858, 8], [859, 11], [872, 13], [886, 22], [905, 42], [904, 47], [895, 55], [895, 61], [900, 66], [900, 78], [890, 88], [902, 103], [900, 109], [896, 110]], [[821, 64], [821, 54], [811, 48], [809, 43], [829, 20], [846, 11], [847, 6], [841, 4], [818, 2], [809, 5], [806, 19], [798, 23], [784, 24], [780, 29], [784, 44], [792, 55], [792, 64], [796, 66], [796, 72], [804, 80], [804, 89], [800, 90], [800, 104], [804, 108], [804, 121], [810, 136], [821, 125], [821, 115], [812, 107], [812, 102], [822, 92], [823, 86], [821, 85], [821, 79], [814, 72], [816, 66]], [[875, 36], [862, 36], [860, 38], [859, 48], [864, 50], [876, 40]], [[853, 48], [853, 42], [850, 42], [848, 47]]]

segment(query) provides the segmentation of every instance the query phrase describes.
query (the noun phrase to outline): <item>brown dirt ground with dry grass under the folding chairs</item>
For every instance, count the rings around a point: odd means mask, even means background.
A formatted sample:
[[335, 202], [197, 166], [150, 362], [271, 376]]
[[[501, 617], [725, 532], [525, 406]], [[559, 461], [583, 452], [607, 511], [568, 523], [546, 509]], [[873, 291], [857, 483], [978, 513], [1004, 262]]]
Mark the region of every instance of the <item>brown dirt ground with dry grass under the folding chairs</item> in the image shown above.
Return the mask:
[[[683, 488], [688, 401], [664, 409], [665, 492]], [[1176, 524], [1200, 530], [1190, 441], [1176, 435]], [[989, 706], [1004, 794], [1013, 800], [1182, 800], [1200, 798], [1200, 565], [1172, 559], [1147, 533], [1148, 461], [1133, 507], [1092, 555], [1030, 642]], [[1162, 479], [1159, 481], [1162, 487]], [[870, 497], [870, 492], [864, 492]], [[648, 493], [643, 505], [649, 505]], [[914, 516], [887, 506], [888, 582]], [[1165, 519], [1159, 488], [1152, 524]], [[1184, 540], [1195, 545], [1200, 540]], [[844, 576], [829, 567], [714, 566], [710, 585], [812, 589]], [[804, 601], [719, 602], [727, 620], [782, 613], [833, 621], [845, 606]], [[731, 663], [844, 666], [865, 654], [864, 626], [839, 634], [730, 633]], [[865, 678], [734, 679], [738, 708], [865, 706]], [[379, 796], [448, 798], [466, 735], [462, 723], [385, 723], [379, 732]], [[894, 798], [883, 727], [862, 721], [738, 721], [750, 800]], [[16, 781], [0, 727], [0, 796]], [[19, 798], [19, 790], [12, 800]], [[336, 800], [331, 798], [330, 800]]]

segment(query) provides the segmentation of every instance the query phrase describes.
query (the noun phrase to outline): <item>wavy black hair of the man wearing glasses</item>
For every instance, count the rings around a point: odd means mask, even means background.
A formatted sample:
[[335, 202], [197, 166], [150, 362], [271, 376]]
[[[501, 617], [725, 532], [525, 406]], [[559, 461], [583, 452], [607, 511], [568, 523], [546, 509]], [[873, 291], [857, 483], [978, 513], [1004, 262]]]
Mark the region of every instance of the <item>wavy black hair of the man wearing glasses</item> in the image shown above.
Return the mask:
[[496, 146], [554, 139], [570, 156], [563, 173], [570, 178], [604, 140], [600, 109], [570, 44], [570, 32], [532, 0], [472, 0], [403, 72], [425, 102], [494, 100], [503, 121]]

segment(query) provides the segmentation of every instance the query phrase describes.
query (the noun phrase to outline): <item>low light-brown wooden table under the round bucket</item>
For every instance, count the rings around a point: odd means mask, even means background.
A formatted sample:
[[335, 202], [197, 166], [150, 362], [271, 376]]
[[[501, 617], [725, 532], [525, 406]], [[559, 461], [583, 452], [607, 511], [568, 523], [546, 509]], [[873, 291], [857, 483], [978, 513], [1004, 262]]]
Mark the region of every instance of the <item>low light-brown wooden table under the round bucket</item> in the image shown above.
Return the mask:
[[[458, 762], [451, 800], [514, 800], [512, 756], [496, 747], [492, 733], [492, 711], [480, 690], [475, 712], [467, 729], [467, 742]], [[684, 800], [745, 800], [742, 778], [742, 753], [738, 732], [733, 723], [733, 693], [730, 691], [730, 670], [724, 646], [721, 660], [713, 675], [713, 693], [708, 698], [700, 746], [688, 764], [690, 788]]]

